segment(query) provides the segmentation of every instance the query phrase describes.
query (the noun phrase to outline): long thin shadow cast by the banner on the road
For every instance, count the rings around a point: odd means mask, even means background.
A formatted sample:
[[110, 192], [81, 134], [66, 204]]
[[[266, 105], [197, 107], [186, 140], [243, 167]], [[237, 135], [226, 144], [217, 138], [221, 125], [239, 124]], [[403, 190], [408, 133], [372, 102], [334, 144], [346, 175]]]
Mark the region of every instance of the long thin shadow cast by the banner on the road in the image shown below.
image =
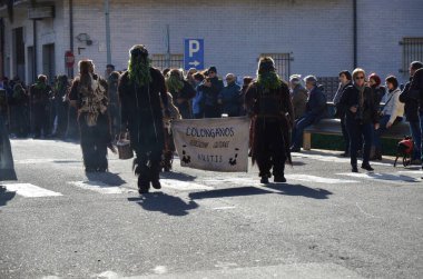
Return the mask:
[[254, 195], [266, 195], [274, 193], [264, 189], [256, 187], [238, 187], [238, 188], [225, 188], [203, 192], [191, 192], [189, 198], [193, 200], [200, 199], [215, 199], [215, 198], [228, 198], [228, 197], [242, 197], [242, 196], [254, 196]]

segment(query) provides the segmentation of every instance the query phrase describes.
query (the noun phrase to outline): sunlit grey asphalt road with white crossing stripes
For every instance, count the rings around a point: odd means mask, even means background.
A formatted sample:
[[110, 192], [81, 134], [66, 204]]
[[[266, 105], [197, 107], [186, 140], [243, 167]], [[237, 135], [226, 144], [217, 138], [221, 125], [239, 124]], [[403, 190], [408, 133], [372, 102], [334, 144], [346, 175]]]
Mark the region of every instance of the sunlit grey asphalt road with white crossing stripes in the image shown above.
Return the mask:
[[350, 172], [331, 152], [294, 156], [286, 185], [257, 169], [163, 175], [145, 197], [131, 161], [83, 172], [78, 145], [12, 140], [0, 189], [0, 278], [422, 278], [423, 175]]

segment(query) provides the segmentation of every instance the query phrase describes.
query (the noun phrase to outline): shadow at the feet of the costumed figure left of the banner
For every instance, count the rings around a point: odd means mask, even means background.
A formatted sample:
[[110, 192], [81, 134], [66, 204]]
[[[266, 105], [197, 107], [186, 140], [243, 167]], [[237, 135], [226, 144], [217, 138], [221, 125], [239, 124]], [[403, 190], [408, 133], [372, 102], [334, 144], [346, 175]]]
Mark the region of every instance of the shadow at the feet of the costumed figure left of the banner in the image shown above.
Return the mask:
[[185, 202], [183, 199], [164, 192], [147, 193], [139, 198], [128, 198], [147, 211], [158, 211], [169, 216], [187, 216], [189, 210], [198, 208], [195, 201]]

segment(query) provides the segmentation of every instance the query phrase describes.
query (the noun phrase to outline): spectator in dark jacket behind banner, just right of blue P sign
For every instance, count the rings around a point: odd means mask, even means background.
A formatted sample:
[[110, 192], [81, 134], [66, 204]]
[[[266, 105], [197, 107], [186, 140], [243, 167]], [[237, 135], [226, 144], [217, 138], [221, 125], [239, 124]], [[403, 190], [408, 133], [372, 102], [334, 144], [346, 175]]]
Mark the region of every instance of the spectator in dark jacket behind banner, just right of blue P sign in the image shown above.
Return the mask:
[[207, 70], [207, 78], [200, 86], [204, 96], [204, 117], [219, 118], [220, 108], [217, 103], [218, 96], [224, 89], [224, 82], [217, 77], [216, 67], [210, 67]]

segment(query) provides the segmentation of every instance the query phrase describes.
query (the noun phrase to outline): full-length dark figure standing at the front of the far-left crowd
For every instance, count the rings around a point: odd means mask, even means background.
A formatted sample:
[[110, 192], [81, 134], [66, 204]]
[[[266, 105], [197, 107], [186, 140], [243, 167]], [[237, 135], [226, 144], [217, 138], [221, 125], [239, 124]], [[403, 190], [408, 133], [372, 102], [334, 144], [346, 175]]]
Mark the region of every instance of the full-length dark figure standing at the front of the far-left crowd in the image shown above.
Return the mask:
[[32, 114], [33, 114], [33, 131], [35, 139], [41, 137], [41, 130], [47, 137], [49, 131], [49, 98], [51, 97], [51, 87], [47, 84], [47, 77], [43, 74], [38, 76], [37, 82], [29, 89]]

